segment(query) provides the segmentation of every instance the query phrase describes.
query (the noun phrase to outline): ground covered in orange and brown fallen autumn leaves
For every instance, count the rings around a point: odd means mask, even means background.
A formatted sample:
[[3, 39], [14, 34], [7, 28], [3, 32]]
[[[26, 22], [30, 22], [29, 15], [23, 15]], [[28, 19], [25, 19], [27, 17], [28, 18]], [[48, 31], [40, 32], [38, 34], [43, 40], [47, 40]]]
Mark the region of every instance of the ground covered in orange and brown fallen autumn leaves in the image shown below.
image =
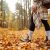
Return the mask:
[[0, 28], [0, 50], [48, 50], [44, 44], [46, 35], [44, 28], [35, 29], [31, 42], [20, 41], [28, 32], [29, 30], [13, 31]]

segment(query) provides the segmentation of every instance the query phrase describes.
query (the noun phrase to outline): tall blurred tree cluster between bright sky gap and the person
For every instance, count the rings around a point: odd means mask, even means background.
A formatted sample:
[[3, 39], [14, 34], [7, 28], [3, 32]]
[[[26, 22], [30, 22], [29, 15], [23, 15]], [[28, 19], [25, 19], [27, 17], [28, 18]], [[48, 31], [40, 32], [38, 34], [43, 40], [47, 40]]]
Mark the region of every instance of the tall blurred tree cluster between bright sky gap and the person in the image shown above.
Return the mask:
[[31, 15], [31, 0], [21, 0], [16, 3], [16, 16], [18, 20], [18, 28], [29, 28]]

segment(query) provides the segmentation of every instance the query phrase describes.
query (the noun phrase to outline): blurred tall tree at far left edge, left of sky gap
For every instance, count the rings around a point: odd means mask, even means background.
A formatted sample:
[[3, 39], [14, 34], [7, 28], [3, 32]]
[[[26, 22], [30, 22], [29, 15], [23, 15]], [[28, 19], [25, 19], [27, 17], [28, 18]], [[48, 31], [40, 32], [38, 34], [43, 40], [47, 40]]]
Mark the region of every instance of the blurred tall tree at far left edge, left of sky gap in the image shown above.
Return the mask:
[[9, 16], [9, 7], [6, 1], [1, 0], [0, 1], [0, 26], [1, 27], [7, 27], [7, 17]]

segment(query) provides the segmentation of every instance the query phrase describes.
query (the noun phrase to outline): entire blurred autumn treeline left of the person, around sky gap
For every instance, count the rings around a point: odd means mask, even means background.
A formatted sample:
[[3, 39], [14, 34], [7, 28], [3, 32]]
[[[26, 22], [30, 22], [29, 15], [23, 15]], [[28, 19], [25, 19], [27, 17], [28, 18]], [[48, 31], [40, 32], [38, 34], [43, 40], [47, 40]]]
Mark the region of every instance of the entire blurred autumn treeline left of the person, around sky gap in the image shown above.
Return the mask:
[[7, 25], [8, 28], [14, 28], [16, 30], [29, 28], [31, 15], [31, 0], [21, 0], [21, 2], [17, 2], [15, 6], [16, 12], [12, 13], [9, 10], [6, 1], [0, 1], [0, 12], [2, 12], [0, 13], [1, 26], [6, 27]]

